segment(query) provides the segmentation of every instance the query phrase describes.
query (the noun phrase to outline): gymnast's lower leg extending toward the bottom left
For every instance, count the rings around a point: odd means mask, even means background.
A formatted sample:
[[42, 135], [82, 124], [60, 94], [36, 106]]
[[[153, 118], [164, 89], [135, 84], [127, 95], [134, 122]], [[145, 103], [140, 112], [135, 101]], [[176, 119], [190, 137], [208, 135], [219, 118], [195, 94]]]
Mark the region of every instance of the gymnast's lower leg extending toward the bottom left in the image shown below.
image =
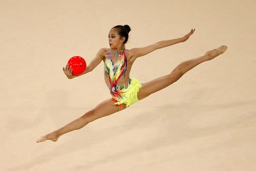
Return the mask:
[[81, 117], [75, 119], [74, 121], [68, 123], [67, 125], [61, 127], [60, 129], [57, 129], [47, 135], [44, 135], [38, 138], [36, 142], [39, 143], [45, 140], [57, 141], [58, 137], [60, 137], [61, 135], [67, 132], [70, 132], [76, 129], [81, 129], [82, 127], [84, 127], [85, 125], [87, 125], [88, 123], [96, 119], [111, 115], [115, 112], [118, 112], [126, 108], [125, 104], [121, 104], [120, 105], [121, 107], [119, 107], [119, 106], [113, 105], [114, 103], [115, 101], [113, 101], [112, 99], [102, 101], [94, 109], [86, 112]]

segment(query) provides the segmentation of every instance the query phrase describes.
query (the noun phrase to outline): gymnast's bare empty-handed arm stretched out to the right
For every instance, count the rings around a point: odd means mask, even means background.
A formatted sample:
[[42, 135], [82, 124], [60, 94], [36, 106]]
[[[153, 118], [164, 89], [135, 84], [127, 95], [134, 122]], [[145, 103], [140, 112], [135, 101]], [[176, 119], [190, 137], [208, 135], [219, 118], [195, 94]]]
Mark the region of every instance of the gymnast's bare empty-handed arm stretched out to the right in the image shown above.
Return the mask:
[[137, 59], [140, 56], [144, 56], [154, 50], [160, 49], [160, 48], [165, 48], [167, 46], [175, 45], [180, 42], [185, 42], [187, 39], [189, 39], [189, 36], [193, 34], [195, 29], [191, 29], [191, 31], [186, 34], [185, 36], [177, 39], [171, 39], [171, 40], [162, 40], [160, 42], [154, 43], [152, 45], [148, 45], [144, 48], [132, 48], [129, 50], [129, 60], [131, 62], [134, 62], [135, 59]]

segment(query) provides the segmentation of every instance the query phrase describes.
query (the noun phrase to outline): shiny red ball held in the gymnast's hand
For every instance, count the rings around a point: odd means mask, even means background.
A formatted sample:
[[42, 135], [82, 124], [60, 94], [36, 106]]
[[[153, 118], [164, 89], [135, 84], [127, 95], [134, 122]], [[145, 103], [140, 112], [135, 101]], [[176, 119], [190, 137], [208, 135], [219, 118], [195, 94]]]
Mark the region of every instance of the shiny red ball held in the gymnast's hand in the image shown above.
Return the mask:
[[68, 69], [72, 66], [73, 75], [79, 75], [86, 69], [86, 62], [81, 56], [73, 56], [67, 63], [69, 64]]

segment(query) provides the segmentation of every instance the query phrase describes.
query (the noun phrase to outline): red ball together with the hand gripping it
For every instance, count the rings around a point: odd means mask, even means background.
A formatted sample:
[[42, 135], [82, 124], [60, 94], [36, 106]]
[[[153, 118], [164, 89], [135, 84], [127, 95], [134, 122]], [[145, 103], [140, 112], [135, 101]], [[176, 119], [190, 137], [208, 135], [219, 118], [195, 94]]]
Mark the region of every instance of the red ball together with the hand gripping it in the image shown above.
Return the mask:
[[81, 56], [73, 56], [67, 62], [65, 69], [64, 67], [62, 68], [67, 78], [69, 79], [74, 78], [75, 76], [83, 73], [85, 69], [86, 62]]

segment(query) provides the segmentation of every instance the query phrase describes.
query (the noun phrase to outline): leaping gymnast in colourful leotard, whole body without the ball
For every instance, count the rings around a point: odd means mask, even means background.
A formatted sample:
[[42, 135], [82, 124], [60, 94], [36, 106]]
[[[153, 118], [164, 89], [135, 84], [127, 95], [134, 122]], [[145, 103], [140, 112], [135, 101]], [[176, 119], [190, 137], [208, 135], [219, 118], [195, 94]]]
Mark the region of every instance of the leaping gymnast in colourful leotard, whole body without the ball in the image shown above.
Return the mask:
[[195, 29], [191, 29], [188, 34], [178, 39], [163, 40], [144, 48], [127, 50], [125, 49], [125, 43], [128, 41], [128, 33], [130, 31], [131, 28], [128, 25], [116, 25], [113, 27], [108, 34], [110, 48], [100, 49], [96, 57], [87, 66], [84, 73], [77, 76], [73, 75], [73, 69], [72, 67], [68, 69], [68, 64], [65, 68], [62, 68], [67, 78], [72, 79], [89, 73], [103, 60], [105, 82], [110, 90], [111, 98], [102, 101], [94, 109], [91, 109], [60, 129], [39, 137], [36, 142], [39, 143], [45, 140], [57, 141], [58, 137], [67, 132], [81, 129], [96, 119], [125, 109], [148, 95], [168, 87], [193, 67], [202, 62], [209, 61], [227, 50], [227, 46], [220, 46], [213, 50], [208, 50], [203, 56], [181, 62], [171, 73], [140, 84], [139, 80], [130, 78], [129, 76], [134, 61], [138, 57], [144, 56], [154, 50], [185, 42], [189, 39], [189, 36], [194, 33]]

